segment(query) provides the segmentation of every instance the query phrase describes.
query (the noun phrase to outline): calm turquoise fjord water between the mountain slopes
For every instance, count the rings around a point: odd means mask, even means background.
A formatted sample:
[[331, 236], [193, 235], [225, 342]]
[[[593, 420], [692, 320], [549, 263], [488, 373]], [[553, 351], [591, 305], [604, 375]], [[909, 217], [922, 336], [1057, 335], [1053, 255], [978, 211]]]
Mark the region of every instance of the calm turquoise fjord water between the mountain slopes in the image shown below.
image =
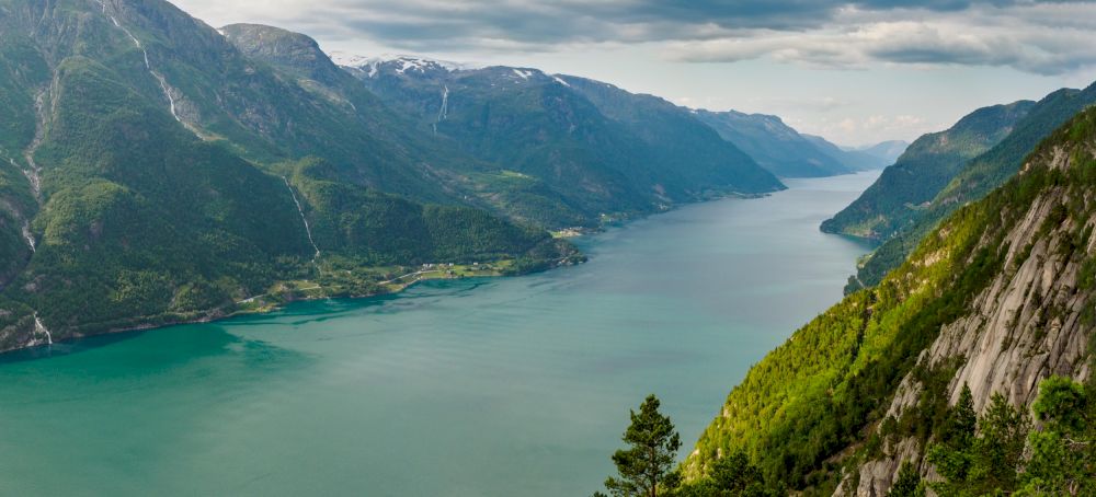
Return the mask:
[[658, 394], [692, 449], [867, 247], [877, 173], [579, 241], [590, 263], [0, 358], [0, 495], [590, 495]]

